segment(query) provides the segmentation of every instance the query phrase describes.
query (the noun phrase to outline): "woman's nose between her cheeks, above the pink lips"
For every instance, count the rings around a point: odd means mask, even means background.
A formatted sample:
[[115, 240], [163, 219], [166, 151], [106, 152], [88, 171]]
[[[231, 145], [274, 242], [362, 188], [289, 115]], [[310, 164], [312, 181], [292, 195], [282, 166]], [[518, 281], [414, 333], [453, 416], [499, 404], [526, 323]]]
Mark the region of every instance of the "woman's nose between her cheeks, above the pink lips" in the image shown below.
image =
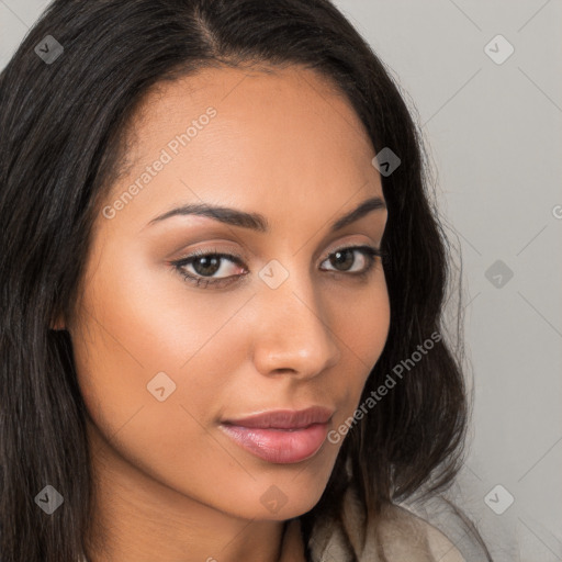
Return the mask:
[[303, 290], [292, 279], [274, 290], [260, 289], [254, 363], [263, 375], [310, 379], [335, 366], [340, 350], [322, 300], [310, 284]]

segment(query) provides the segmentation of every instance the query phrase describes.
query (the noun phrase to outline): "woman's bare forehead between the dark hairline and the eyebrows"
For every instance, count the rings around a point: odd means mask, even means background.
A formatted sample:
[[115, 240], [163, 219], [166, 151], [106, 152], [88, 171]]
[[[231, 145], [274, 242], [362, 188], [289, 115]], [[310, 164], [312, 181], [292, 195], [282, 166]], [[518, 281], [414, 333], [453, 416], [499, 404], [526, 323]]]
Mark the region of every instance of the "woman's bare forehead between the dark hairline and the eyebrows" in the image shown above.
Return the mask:
[[158, 83], [131, 123], [113, 199], [162, 155], [135, 212], [204, 200], [272, 215], [288, 201], [313, 203], [330, 214], [353, 195], [382, 196], [374, 149], [347, 97], [297, 66], [207, 68]]

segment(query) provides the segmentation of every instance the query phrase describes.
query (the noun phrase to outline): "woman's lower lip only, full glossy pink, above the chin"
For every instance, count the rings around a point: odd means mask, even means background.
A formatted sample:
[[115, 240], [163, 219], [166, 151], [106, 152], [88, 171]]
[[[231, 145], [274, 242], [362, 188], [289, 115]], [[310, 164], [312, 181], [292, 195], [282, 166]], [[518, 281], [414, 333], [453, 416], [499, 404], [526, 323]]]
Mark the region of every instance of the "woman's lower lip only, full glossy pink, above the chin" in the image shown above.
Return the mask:
[[268, 462], [289, 464], [304, 461], [318, 452], [326, 440], [328, 424], [304, 429], [260, 429], [221, 424], [221, 429], [240, 447]]

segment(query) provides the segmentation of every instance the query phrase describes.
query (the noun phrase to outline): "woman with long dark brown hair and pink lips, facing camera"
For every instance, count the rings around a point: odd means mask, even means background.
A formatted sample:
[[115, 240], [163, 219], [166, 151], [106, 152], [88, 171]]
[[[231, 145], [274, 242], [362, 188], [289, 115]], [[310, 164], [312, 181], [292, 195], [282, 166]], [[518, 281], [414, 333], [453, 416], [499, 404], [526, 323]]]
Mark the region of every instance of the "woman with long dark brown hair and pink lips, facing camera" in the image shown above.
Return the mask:
[[446, 238], [334, 5], [55, 0], [0, 99], [3, 562], [467, 559], [405, 507], [461, 462]]

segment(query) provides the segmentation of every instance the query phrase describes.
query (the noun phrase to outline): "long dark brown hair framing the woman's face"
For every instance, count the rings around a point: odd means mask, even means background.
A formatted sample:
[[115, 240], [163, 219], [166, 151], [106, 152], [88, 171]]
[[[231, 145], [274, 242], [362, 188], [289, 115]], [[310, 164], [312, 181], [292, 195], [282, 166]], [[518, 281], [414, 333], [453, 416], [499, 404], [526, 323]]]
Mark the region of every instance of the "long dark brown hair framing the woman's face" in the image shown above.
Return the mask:
[[[47, 35], [64, 48], [48, 64], [36, 52]], [[468, 400], [460, 348], [453, 352], [442, 325], [449, 243], [419, 128], [368, 43], [328, 0], [55, 0], [0, 75], [3, 562], [76, 562], [86, 552], [94, 510], [87, 413], [69, 335], [50, 326], [74, 312], [124, 131], [157, 82], [243, 64], [301, 65], [329, 77], [375, 151], [389, 147], [401, 159], [382, 176], [390, 333], [361, 402], [431, 334], [442, 335], [350, 428], [324, 495], [302, 516], [303, 532], [341, 510], [348, 485], [374, 518], [390, 503], [442, 490], [459, 470]], [[47, 484], [64, 497], [52, 517], [34, 502]]]

